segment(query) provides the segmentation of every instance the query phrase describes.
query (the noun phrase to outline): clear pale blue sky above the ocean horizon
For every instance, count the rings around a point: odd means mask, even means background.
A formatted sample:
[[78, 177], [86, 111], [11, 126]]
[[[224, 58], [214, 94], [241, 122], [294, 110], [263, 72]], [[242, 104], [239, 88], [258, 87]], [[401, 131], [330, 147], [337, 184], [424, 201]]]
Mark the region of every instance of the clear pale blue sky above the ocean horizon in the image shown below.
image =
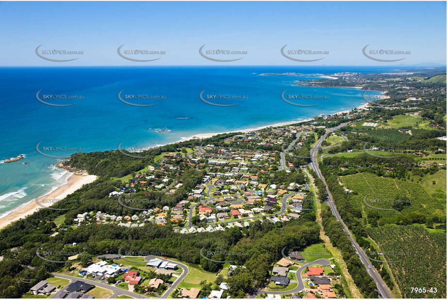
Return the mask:
[[[0, 28], [0, 66], [446, 64], [446, 2], [0, 2]], [[35, 54], [40, 44], [84, 54], [50, 62]], [[135, 63], [117, 55], [122, 44], [166, 54]], [[199, 55], [204, 44], [248, 54], [217, 63]], [[285, 44], [330, 54], [297, 63], [281, 55]], [[376, 62], [367, 44], [411, 55]]]

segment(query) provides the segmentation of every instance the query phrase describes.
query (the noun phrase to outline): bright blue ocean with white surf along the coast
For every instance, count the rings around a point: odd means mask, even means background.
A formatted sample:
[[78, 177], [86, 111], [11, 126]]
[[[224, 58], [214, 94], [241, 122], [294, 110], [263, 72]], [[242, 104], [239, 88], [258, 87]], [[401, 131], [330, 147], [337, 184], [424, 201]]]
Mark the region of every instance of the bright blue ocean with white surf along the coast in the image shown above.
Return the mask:
[[[321, 78], [315, 74], [396, 70], [299, 66], [0, 68], [0, 160], [25, 156], [0, 164], [0, 216], [64, 184], [70, 173], [54, 166], [61, 157], [79, 151], [115, 150], [120, 143], [121, 149], [140, 149], [199, 133], [237, 131], [349, 110], [365, 102], [362, 91], [296, 84]], [[297, 74], [261, 76], [292, 72]], [[285, 95], [302, 95], [290, 101], [318, 105], [289, 104], [281, 99], [284, 90]], [[54, 157], [40, 154], [36, 145], [40, 152]]]

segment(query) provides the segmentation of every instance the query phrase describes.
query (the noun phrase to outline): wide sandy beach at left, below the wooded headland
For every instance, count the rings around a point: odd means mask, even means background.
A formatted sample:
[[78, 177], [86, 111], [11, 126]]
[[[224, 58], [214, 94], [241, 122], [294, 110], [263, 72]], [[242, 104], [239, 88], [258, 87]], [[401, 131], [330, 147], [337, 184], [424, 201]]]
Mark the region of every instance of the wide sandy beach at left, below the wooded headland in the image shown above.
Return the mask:
[[[81, 188], [84, 184], [91, 183], [95, 181], [97, 178], [96, 175], [88, 175], [86, 173], [82, 175], [73, 174], [68, 178], [68, 181], [66, 184], [59, 186], [54, 191], [50, 192], [47, 195], [44, 195], [37, 199], [39, 203], [43, 203], [45, 199], [55, 199], [55, 200], [62, 200], [67, 195], [72, 194], [77, 189]], [[48, 205], [48, 204], [43, 204]], [[33, 214], [37, 210], [39, 210], [41, 207], [36, 203], [35, 200], [30, 201], [26, 203], [23, 206], [20, 206], [17, 210], [11, 212], [5, 217], [2, 217], [0, 219], [0, 229], [11, 224], [14, 221], [17, 221], [20, 218], [24, 218], [28, 215]]]

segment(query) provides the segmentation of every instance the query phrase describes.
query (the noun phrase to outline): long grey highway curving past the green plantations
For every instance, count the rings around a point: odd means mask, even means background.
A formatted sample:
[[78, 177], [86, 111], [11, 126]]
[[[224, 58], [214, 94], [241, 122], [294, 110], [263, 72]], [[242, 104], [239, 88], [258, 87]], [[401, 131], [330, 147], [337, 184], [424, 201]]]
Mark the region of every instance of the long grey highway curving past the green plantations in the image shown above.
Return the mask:
[[317, 174], [318, 178], [321, 179], [324, 183], [324, 185], [326, 186], [326, 192], [328, 194], [328, 204], [331, 207], [331, 211], [332, 214], [335, 216], [335, 219], [337, 221], [339, 221], [342, 226], [343, 226], [343, 230], [348, 233], [348, 237], [349, 240], [351, 241], [352, 246], [354, 246], [354, 249], [356, 250], [356, 253], [359, 255], [360, 257], [360, 261], [364, 264], [365, 268], [366, 268], [366, 272], [372, 277], [372, 279], [376, 282], [377, 285], [377, 290], [379, 291], [379, 297], [381, 298], [387, 298], [387, 299], [391, 299], [393, 298], [388, 287], [386, 286], [386, 284], [383, 282], [382, 278], [380, 277], [380, 275], [377, 273], [377, 270], [375, 269], [375, 267], [371, 264], [371, 262], [368, 260], [366, 254], [364, 253], [364, 251], [362, 250], [362, 248], [360, 248], [360, 246], [357, 244], [357, 242], [354, 240], [354, 238], [352, 237], [352, 234], [349, 232], [348, 226], [346, 226], [345, 222], [343, 222], [342, 217], [340, 217], [340, 214], [337, 211], [337, 207], [335, 206], [335, 201], [332, 198], [331, 192], [329, 191], [328, 188], [328, 184], [326, 183], [326, 181], [324, 180], [323, 174], [321, 173], [320, 168], [318, 167], [318, 162], [317, 162], [317, 153], [318, 153], [318, 149], [321, 146], [321, 143], [324, 141], [324, 139], [328, 136], [329, 133], [332, 133], [346, 125], [348, 125], [350, 122], [348, 123], [343, 123], [338, 125], [337, 127], [331, 128], [329, 129], [316, 143], [314, 149], [312, 149], [311, 151], [311, 167], [314, 169], [315, 173]]

